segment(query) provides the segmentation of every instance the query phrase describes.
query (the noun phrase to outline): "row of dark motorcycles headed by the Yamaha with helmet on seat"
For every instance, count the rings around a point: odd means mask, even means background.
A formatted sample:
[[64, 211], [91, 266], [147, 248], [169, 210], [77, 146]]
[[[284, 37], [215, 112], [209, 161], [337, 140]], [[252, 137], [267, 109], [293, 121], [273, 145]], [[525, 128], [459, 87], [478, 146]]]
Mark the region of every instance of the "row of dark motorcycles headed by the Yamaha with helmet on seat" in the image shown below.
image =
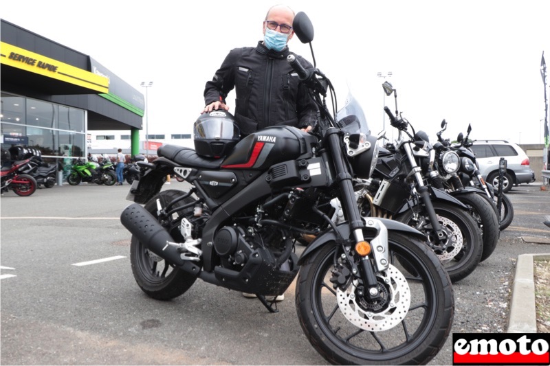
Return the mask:
[[[303, 12], [293, 27], [313, 53]], [[239, 141], [232, 115], [213, 111], [195, 122], [195, 149], [165, 145], [155, 161], [137, 163], [134, 203], [120, 218], [132, 235], [135, 281], [167, 300], [198, 278], [255, 294], [276, 312], [267, 297], [297, 277], [300, 325], [330, 363], [428, 363], [452, 326], [452, 283], [492, 255], [513, 207], [481, 178], [471, 128], [451, 143], [443, 122], [430, 144], [385, 82], [399, 136], [380, 147], [384, 134], [370, 134], [351, 94], [337, 112], [329, 78], [287, 61], [318, 106], [311, 133], [272, 126]], [[162, 190], [167, 174], [190, 189]], [[307, 246], [300, 258], [297, 243]]]

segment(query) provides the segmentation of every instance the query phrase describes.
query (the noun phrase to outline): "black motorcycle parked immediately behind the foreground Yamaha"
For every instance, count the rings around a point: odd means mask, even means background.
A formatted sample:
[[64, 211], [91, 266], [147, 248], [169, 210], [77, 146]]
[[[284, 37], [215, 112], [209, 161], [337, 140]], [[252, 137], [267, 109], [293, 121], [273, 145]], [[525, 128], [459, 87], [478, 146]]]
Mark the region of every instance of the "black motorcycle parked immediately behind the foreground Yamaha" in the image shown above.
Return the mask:
[[[384, 82], [389, 96], [397, 92]], [[392, 218], [415, 227], [428, 236], [428, 245], [448, 271], [452, 282], [470, 275], [483, 251], [483, 240], [468, 207], [447, 192], [434, 189], [424, 179], [421, 163], [429, 157], [428, 135], [415, 132], [401, 115], [388, 107], [391, 126], [399, 130], [395, 144], [380, 149], [371, 179], [357, 181], [355, 190], [363, 216]], [[408, 129], [410, 126], [410, 130]]]

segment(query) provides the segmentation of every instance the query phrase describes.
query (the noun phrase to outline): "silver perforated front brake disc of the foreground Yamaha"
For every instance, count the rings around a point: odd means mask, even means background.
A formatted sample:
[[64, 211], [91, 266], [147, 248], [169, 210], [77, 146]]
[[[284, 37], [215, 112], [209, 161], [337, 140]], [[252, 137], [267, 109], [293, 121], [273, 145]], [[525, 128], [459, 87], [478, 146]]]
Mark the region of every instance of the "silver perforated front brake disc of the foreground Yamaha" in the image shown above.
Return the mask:
[[[380, 332], [388, 330], [399, 324], [406, 317], [410, 307], [410, 288], [405, 276], [395, 266], [389, 265], [388, 269], [376, 274], [379, 288], [380, 285], [388, 289], [386, 304], [380, 310], [378, 306], [362, 306], [358, 300], [357, 285], [355, 279], [346, 290], [336, 288], [338, 307], [340, 311], [353, 325], [363, 330]], [[360, 305], [361, 304], [361, 305]]]

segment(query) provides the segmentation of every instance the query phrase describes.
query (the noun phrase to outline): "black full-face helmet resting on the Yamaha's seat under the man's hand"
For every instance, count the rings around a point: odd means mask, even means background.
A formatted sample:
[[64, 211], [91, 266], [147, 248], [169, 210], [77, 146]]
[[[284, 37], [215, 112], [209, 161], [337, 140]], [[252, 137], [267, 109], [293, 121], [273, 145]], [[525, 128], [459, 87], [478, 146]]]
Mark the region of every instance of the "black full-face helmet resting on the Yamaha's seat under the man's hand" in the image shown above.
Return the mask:
[[224, 157], [240, 139], [240, 130], [228, 111], [203, 113], [193, 124], [195, 151], [203, 157]]

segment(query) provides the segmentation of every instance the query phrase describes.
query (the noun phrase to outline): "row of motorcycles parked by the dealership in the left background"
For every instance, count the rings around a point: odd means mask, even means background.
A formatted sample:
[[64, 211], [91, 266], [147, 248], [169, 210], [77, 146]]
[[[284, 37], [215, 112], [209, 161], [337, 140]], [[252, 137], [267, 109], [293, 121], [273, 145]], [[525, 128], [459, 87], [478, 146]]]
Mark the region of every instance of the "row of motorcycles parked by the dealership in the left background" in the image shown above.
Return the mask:
[[[142, 155], [136, 155], [135, 161], [142, 161]], [[124, 180], [131, 184], [139, 179], [140, 168], [132, 161], [124, 167]], [[1, 192], [12, 190], [18, 196], [30, 196], [36, 189], [51, 188], [56, 184], [57, 172], [65, 172], [69, 185], [96, 183], [114, 185], [116, 183], [115, 166], [111, 160], [102, 159], [100, 163], [78, 159], [63, 166], [45, 163], [40, 150], [25, 146], [12, 146], [1, 151]]]

